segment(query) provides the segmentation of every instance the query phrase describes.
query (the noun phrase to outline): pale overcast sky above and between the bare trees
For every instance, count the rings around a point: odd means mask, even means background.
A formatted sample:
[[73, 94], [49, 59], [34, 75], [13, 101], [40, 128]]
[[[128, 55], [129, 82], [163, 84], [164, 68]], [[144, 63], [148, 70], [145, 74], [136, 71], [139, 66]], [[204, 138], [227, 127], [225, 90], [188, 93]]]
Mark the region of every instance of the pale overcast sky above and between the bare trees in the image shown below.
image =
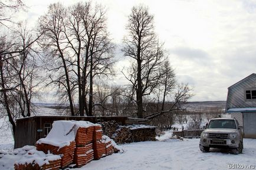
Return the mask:
[[[58, 1], [24, 3], [28, 12], [19, 14], [29, 25], [37, 24], [47, 6]], [[60, 1], [64, 5], [78, 1]], [[225, 101], [227, 88], [256, 72], [256, 1], [99, 0], [108, 9], [109, 32], [122, 45], [132, 6], [145, 4], [155, 16], [155, 31], [165, 42], [170, 63], [179, 82], [193, 86], [191, 101]], [[116, 55], [122, 56], [119, 52]], [[127, 61], [117, 63], [117, 72]], [[122, 76], [114, 81], [125, 84]]]

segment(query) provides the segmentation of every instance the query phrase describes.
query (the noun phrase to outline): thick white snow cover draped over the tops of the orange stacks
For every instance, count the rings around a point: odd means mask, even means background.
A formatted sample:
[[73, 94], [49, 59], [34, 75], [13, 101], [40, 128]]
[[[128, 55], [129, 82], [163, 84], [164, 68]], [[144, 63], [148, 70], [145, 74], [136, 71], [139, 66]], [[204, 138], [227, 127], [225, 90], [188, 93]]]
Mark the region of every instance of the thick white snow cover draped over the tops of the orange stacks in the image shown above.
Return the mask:
[[88, 128], [90, 126], [100, 125], [88, 121], [55, 121], [46, 138], [39, 139], [37, 144], [43, 143], [63, 148], [75, 140], [78, 128]]

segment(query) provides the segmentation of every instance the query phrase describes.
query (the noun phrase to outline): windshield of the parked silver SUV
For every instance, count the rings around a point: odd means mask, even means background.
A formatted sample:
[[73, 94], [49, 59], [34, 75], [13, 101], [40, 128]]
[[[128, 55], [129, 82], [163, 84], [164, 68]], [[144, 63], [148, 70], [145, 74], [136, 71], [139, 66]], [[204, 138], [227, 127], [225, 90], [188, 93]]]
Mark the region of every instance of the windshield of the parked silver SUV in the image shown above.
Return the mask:
[[229, 128], [236, 129], [234, 120], [216, 119], [209, 122], [208, 128]]

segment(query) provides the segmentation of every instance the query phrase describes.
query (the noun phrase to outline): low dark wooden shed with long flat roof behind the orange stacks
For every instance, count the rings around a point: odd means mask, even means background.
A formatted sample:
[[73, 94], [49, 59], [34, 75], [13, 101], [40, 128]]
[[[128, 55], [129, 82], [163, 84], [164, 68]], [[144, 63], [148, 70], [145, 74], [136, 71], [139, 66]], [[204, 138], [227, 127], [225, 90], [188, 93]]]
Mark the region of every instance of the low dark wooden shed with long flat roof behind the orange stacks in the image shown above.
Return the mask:
[[40, 138], [44, 138], [50, 132], [52, 123], [60, 120], [89, 121], [100, 123], [116, 121], [119, 125], [147, 124], [147, 119], [131, 118], [130, 116], [32, 116], [16, 120], [16, 132], [14, 135], [14, 148], [25, 145], [35, 145]]

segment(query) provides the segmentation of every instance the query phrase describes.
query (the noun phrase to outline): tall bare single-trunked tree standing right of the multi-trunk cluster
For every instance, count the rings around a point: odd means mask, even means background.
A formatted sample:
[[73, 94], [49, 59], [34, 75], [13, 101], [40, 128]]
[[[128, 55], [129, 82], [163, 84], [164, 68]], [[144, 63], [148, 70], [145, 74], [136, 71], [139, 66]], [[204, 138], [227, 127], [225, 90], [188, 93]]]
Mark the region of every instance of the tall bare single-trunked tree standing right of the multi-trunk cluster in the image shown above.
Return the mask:
[[153, 15], [145, 6], [134, 6], [126, 27], [129, 35], [124, 39], [124, 56], [133, 59], [132, 68], [124, 74], [136, 91], [137, 117], [143, 118], [143, 96], [150, 95], [159, 84], [163, 64], [163, 48], [153, 26]]

